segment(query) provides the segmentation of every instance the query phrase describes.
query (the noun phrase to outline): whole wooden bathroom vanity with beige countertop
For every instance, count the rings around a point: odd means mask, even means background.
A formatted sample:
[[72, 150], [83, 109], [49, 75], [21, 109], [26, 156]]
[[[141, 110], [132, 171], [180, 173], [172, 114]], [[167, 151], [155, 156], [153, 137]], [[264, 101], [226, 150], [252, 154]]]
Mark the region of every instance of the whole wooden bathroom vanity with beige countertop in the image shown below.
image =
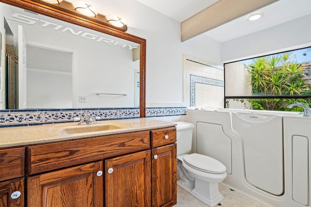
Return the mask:
[[176, 204], [175, 124], [140, 118], [99, 125], [111, 123], [127, 127], [69, 134], [62, 132], [77, 123], [0, 128], [0, 206]]

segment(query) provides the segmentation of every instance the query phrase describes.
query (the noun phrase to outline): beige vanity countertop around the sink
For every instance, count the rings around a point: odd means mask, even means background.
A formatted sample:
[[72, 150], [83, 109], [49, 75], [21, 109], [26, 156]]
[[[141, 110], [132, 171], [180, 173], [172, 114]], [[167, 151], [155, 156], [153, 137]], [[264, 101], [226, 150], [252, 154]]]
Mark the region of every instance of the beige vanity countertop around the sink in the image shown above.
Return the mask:
[[[101, 127], [107, 125], [120, 126], [117, 129], [91, 131], [82, 133], [64, 134], [64, 129], [80, 129], [80, 127]], [[29, 127], [3, 127], [0, 128], [0, 148], [21, 146], [37, 143], [49, 143], [65, 140], [80, 139], [86, 137], [119, 134], [125, 132], [141, 131], [162, 127], [173, 127], [175, 123], [164, 122], [150, 118], [122, 119], [111, 121], [99, 121], [95, 125], [78, 126], [78, 122], [46, 124]]]

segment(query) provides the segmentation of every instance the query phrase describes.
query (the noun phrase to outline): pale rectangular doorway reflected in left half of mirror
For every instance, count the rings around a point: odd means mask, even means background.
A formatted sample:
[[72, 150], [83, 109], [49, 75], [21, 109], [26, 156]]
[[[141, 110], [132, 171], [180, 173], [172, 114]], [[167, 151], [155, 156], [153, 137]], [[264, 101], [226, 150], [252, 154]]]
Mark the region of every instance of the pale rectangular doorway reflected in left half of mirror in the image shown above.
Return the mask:
[[26, 51], [27, 108], [71, 108], [72, 53], [33, 45]]

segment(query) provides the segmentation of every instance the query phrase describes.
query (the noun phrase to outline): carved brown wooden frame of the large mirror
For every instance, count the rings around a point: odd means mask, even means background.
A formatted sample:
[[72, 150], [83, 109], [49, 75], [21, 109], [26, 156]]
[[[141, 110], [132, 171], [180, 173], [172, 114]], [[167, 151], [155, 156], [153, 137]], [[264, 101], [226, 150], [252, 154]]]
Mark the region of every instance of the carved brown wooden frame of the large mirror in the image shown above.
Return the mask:
[[139, 83], [139, 114], [140, 118], [146, 116], [146, 40], [132, 34], [128, 34], [114, 28], [105, 26], [104, 24], [100, 24], [98, 22], [92, 21], [89, 18], [84, 18], [82, 16], [77, 16], [75, 14], [70, 14], [66, 11], [62, 11], [60, 9], [51, 7], [49, 5], [45, 5], [42, 3], [38, 3], [32, 0], [0, 0], [0, 2], [7, 3], [13, 6], [17, 6], [22, 9], [27, 9], [29, 11], [36, 12], [41, 15], [51, 16], [53, 18], [57, 18], [72, 24], [76, 24], [82, 27], [86, 27], [91, 30], [95, 30], [98, 32], [103, 32], [106, 34], [110, 34], [115, 37], [119, 37], [131, 42], [135, 42], [140, 44], [140, 83]]

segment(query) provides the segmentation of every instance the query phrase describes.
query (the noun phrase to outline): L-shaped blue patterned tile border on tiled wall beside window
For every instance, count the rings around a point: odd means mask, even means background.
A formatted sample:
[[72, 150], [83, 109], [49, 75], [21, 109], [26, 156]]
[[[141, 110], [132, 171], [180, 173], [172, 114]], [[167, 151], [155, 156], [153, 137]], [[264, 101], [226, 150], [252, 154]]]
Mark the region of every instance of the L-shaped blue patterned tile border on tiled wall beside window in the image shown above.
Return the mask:
[[190, 74], [190, 107], [195, 106], [195, 84], [201, 83], [206, 85], [212, 85], [217, 87], [224, 87], [224, 80], [211, 79], [204, 76], [196, 76]]

